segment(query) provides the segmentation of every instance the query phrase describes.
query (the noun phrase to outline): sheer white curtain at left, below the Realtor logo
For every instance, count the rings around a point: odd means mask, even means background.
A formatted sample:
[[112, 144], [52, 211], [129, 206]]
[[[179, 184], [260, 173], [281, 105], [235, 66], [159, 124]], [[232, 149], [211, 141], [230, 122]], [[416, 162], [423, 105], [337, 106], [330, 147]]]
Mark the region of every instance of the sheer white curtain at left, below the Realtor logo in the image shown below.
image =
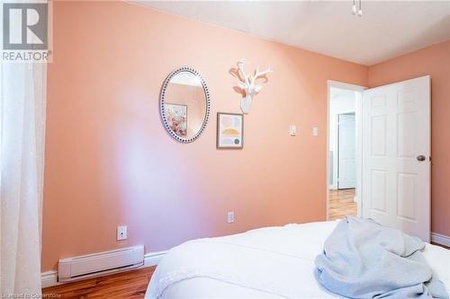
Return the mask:
[[47, 65], [2, 63], [0, 74], [0, 297], [40, 295]]

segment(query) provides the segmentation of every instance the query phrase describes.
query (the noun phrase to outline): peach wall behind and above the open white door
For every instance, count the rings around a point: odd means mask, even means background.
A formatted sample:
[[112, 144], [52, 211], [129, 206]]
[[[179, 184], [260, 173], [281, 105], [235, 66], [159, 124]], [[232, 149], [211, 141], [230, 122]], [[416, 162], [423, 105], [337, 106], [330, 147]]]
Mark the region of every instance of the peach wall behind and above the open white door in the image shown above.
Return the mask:
[[431, 76], [431, 231], [450, 236], [450, 40], [369, 67], [369, 86]]

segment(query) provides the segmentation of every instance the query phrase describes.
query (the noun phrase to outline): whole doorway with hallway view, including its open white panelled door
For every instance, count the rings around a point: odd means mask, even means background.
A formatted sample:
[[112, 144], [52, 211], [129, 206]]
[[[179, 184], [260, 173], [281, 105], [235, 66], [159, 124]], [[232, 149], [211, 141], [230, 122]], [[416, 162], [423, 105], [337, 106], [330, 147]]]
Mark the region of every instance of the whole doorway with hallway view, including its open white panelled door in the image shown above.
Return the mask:
[[[426, 75], [366, 89], [329, 81], [329, 220], [372, 218], [429, 242], [430, 82]], [[353, 138], [353, 113], [355, 150], [346, 141]], [[339, 132], [341, 121], [346, 128]]]

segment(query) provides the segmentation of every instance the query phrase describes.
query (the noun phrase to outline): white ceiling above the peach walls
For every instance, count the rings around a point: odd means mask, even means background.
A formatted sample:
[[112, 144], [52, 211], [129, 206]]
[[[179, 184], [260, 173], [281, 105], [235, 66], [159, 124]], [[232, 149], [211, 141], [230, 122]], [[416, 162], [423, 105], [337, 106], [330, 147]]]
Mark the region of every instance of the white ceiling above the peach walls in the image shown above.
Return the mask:
[[129, 2], [366, 66], [450, 40], [448, 0]]

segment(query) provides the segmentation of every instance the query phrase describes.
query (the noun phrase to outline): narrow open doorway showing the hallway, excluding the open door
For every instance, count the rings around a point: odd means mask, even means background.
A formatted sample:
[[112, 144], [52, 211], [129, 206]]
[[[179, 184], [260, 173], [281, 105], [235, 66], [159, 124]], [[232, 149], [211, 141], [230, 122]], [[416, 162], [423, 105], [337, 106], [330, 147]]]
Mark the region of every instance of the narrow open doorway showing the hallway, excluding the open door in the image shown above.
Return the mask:
[[328, 219], [359, 211], [361, 100], [363, 86], [329, 82]]

